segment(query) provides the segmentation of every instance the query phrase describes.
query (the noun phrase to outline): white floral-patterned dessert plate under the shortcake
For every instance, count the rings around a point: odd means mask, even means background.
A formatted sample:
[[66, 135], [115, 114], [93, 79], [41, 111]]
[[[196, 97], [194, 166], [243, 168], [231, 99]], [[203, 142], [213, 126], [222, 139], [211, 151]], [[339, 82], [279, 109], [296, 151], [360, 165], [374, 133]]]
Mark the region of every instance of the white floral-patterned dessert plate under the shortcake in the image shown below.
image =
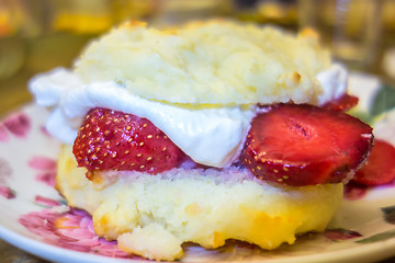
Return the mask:
[[[349, 91], [360, 98], [353, 114], [376, 127], [376, 137], [394, 140], [393, 89], [375, 78], [354, 75]], [[90, 216], [66, 206], [54, 186], [60, 145], [44, 128], [47, 115], [32, 104], [0, 122], [0, 238], [56, 262], [148, 262], [98, 238]], [[218, 250], [193, 244], [184, 250], [185, 262], [379, 261], [395, 255], [395, 182], [374, 188], [347, 187], [326, 231], [300, 237], [293, 245], [263, 251], [230, 241]]]

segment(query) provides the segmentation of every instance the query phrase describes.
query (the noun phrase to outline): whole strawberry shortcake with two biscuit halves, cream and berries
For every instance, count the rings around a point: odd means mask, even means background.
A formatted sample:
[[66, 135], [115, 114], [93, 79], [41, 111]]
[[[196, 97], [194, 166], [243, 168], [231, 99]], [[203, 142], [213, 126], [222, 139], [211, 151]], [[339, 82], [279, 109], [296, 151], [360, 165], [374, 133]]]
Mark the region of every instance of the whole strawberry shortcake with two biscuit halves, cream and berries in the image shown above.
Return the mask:
[[373, 144], [345, 113], [358, 102], [345, 68], [314, 35], [270, 26], [128, 22], [30, 89], [64, 144], [60, 194], [154, 260], [323, 231]]

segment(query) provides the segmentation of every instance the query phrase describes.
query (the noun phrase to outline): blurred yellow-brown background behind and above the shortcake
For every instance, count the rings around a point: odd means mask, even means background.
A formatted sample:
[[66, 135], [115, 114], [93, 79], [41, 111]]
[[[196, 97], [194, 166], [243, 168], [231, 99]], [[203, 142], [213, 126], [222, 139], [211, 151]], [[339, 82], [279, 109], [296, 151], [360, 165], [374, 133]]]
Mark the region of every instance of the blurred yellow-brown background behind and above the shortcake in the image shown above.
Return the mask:
[[335, 59], [394, 82], [395, 0], [0, 0], [0, 116], [31, 101], [32, 76], [70, 67], [115, 24], [213, 16], [311, 30]]

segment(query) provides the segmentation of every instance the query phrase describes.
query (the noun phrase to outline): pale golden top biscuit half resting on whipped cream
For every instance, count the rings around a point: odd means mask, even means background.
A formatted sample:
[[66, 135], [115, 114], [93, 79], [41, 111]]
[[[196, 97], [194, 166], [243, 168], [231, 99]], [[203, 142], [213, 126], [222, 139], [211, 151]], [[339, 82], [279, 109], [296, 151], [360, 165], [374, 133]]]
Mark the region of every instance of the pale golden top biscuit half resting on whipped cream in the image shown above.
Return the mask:
[[331, 65], [313, 35], [225, 20], [157, 30], [129, 22], [92, 42], [75, 65], [83, 82], [115, 81], [156, 101], [317, 104]]

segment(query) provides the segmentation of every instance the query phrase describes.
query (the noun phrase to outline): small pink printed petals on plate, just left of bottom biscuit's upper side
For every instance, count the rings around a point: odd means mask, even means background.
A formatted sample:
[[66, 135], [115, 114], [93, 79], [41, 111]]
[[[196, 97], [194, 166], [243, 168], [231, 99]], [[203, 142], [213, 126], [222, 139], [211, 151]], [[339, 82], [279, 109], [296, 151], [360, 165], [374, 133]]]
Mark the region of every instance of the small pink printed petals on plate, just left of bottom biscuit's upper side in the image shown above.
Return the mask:
[[33, 157], [29, 161], [29, 167], [40, 170], [35, 179], [44, 182], [49, 186], [56, 185], [56, 161], [47, 157]]

